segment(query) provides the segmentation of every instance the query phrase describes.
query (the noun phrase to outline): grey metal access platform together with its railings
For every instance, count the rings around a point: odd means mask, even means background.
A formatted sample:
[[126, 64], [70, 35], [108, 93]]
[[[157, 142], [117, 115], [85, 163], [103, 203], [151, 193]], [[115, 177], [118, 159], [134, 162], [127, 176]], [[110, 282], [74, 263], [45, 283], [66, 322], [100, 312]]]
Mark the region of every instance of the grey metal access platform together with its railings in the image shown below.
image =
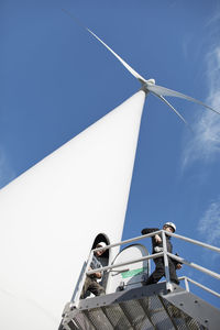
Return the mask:
[[[164, 231], [160, 232], [162, 232], [163, 238], [165, 238], [165, 234], [167, 234], [167, 232], [165, 233]], [[118, 244], [109, 245], [107, 248], [112, 249], [114, 246], [135, 242], [144, 238], [150, 238], [155, 233], [139, 237], [132, 240], [120, 242]], [[201, 245], [220, 253], [219, 248], [215, 248], [180, 235], [172, 233], [170, 235], [188, 242], [190, 241], [193, 244]], [[163, 242], [165, 244], [166, 240], [163, 240]], [[91, 255], [96, 250], [91, 251]], [[80, 300], [79, 295], [86, 278], [86, 274], [91, 274], [97, 271], [94, 270], [88, 272], [88, 266], [91, 260], [90, 255], [86, 272], [79, 282], [78, 293], [76, 293], [74, 299], [68, 302], [64, 309], [59, 330], [219, 330], [220, 310], [190, 293], [188, 282], [193, 282], [219, 298], [220, 294], [188, 277], [179, 278], [185, 280], [186, 288], [170, 283], [166, 260], [167, 255], [218, 279], [220, 279], [220, 275], [195, 263], [186, 261], [183, 257], [177, 257], [176, 255], [167, 253], [166, 246], [164, 246], [164, 251], [158, 254], [145, 255], [142, 257], [139, 255], [138, 258], [127, 262], [114, 262], [112, 265], [99, 268], [99, 271], [102, 270], [109, 272], [120, 267], [118, 273], [123, 273], [124, 267], [124, 272], [128, 272], [128, 267], [131, 265], [150, 261], [150, 258], [155, 257], [155, 255], [160, 256], [162, 254], [165, 258], [164, 264], [166, 266], [165, 282], [148, 286], [143, 286], [140, 280], [135, 282], [133, 286], [129, 285], [129, 283], [124, 283], [124, 285], [121, 286], [120, 283], [119, 289], [114, 292], [109, 292], [107, 289], [107, 295], [105, 296]], [[111, 278], [108, 280], [111, 282]], [[110, 285], [110, 288], [112, 290], [112, 285]]]

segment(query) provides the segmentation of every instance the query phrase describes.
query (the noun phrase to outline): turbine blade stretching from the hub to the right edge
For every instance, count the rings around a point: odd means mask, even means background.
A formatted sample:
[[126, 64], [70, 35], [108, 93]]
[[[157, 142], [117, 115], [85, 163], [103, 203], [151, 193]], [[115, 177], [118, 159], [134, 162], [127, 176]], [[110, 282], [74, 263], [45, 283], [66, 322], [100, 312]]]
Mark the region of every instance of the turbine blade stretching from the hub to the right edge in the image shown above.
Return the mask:
[[170, 96], [170, 97], [176, 97], [176, 98], [182, 98], [182, 99], [185, 99], [185, 100], [188, 100], [188, 101], [191, 101], [191, 102], [195, 102], [195, 103], [198, 103], [218, 114], [220, 114], [220, 112], [218, 112], [217, 110], [212, 109], [211, 107], [205, 105], [204, 102], [197, 100], [197, 99], [194, 99], [187, 95], [184, 95], [179, 91], [175, 91], [175, 90], [172, 90], [172, 89], [168, 89], [168, 88], [165, 88], [165, 87], [162, 87], [162, 86], [157, 86], [157, 85], [150, 85], [147, 84], [146, 86], [146, 89], [152, 91], [152, 92], [155, 92], [157, 96]]

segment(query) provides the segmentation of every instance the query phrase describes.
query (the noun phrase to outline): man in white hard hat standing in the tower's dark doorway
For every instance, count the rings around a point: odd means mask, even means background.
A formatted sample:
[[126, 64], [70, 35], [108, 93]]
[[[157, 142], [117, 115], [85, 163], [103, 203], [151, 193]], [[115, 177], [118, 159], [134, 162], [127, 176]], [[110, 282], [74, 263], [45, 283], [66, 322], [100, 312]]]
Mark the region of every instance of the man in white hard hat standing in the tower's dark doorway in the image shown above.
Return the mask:
[[[105, 248], [106, 245], [107, 244], [105, 242], [99, 242], [96, 245], [96, 249]], [[102, 267], [102, 264], [99, 261], [99, 257], [105, 253], [105, 251], [106, 250], [99, 250], [94, 253], [94, 257], [91, 260], [89, 271]], [[81, 290], [80, 299], [86, 298], [88, 292], [92, 293], [95, 296], [101, 296], [101, 295], [106, 294], [105, 288], [97, 282], [97, 279], [101, 279], [101, 277], [102, 277], [102, 272], [97, 272], [95, 274], [86, 276], [86, 280], [85, 280], [85, 284], [84, 284], [84, 287]]]

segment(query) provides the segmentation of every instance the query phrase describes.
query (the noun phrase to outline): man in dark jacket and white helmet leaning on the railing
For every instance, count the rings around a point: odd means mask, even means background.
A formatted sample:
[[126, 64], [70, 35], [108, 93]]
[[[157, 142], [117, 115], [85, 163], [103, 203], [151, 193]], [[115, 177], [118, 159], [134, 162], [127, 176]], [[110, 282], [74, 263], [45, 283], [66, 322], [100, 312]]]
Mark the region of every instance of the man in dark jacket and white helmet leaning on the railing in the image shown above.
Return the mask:
[[[148, 234], [158, 230], [160, 230], [158, 228], [145, 228], [142, 230], [141, 233]], [[173, 222], [166, 222], [163, 226], [163, 230], [168, 232], [175, 232], [176, 226]], [[166, 235], [166, 245], [167, 245], [167, 252], [173, 253], [173, 245], [170, 242], [170, 237], [168, 235]], [[152, 248], [153, 248], [152, 254], [163, 252], [162, 234], [155, 234], [154, 237], [152, 237]], [[144, 285], [157, 283], [165, 275], [164, 257], [160, 256], [154, 258], [154, 263], [156, 265], [155, 271], [147, 279], [143, 282]], [[168, 257], [168, 268], [169, 268], [170, 280], [176, 284], [179, 284], [178, 277], [176, 275], [176, 270], [180, 270], [182, 264]]]

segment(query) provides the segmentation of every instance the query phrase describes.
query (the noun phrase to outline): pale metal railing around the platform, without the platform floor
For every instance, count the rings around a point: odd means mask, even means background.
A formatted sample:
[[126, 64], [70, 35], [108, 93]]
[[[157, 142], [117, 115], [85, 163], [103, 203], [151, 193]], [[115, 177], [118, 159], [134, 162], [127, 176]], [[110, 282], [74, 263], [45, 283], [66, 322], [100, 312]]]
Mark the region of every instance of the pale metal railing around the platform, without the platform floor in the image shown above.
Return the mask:
[[[163, 251], [162, 252], [154, 253], [154, 254], [151, 254], [151, 255], [147, 255], [147, 256], [143, 256], [143, 257], [139, 257], [139, 258], [135, 258], [135, 260], [131, 260], [131, 261], [128, 261], [128, 262], [124, 262], [124, 263], [112, 264], [112, 265], [108, 265], [108, 266], [103, 266], [103, 267], [100, 267], [100, 268], [96, 268], [96, 270], [89, 271], [89, 266], [90, 266], [94, 253], [96, 251], [110, 250], [110, 249], [116, 248], [116, 246], [121, 246], [121, 245], [124, 245], [124, 244], [129, 244], [129, 243], [133, 243], [133, 242], [136, 242], [136, 241], [141, 241], [141, 240], [144, 240], [144, 239], [152, 238], [155, 234], [161, 234], [162, 235], [162, 240], [163, 240]], [[76, 306], [78, 305], [80, 293], [82, 290], [82, 286], [84, 286], [84, 283], [85, 283], [85, 279], [86, 279], [87, 275], [91, 275], [91, 274], [95, 274], [97, 272], [112, 271], [112, 270], [121, 267], [121, 266], [127, 266], [127, 265], [134, 264], [134, 263], [138, 263], [138, 262], [141, 262], [141, 261], [146, 261], [146, 260], [156, 258], [156, 257], [161, 257], [161, 256], [164, 257], [166, 288], [167, 288], [168, 292], [173, 290], [173, 285], [170, 283], [169, 268], [168, 268], [168, 257], [170, 257], [173, 260], [176, 260], [178, 263], [186, 264], [189, 267], [196, 268], [196, 270], [198, 270], [198, 271], [200, 271], [200, 272], [202, 272], [205, 274], [208, 274], [211, 277], [220, 279], [220, 274], [218, 274], [216, 272], [212, 272], [212, 271], [210, 271], [208, 268], [205, 268], [205, 267], [202, 267], [202, 266], [200, 266], [200, 265], [198, 265], [196, 263], [193, 263], [190, 261], [187, 261], [187, 260], [185, 260], [183, 257], [179, 257], [177, 255], [174, 255], [174, 254], [167, 252], [166, 235], [174, 237], [176, 239], [180, 239], [180, 240], [184, 240], [186, 242], [189, 242], [189, 243], [193, 243], [193, 244], [202, 246], [205, 249], [209, 249], [209, 250], [212, 250], [212, 251], [216, 251], [216, 252], [220, 253], [220, 248], [216, 248], [216, 246], [202, 243], [200, 241], [188, 239], [186, 237], [174, 234], [174, 233], [170, 233], [170, 232], [167, 232], [167, 231], [164, 231], [164, 230], [158, 230], [158, 231], [155, 231], [153, 233], [148, 233], [148, 234], [145, 234], [145, 235], [136, 237], [136, 238], [133, 238], [133, 239], [130, 239], [130, 240], [125, 240], [125, 241], [121, 241], [119, 243], [110, 244], [110, 245], [107, 245], [105, 248], [94, 249], [94, 250], [90, 251], [85, 273], [82, 274], [82, 276], [81, 276], [81, 278], [79, 280], [79, 286], [78, 286], [77, 294], [75, 295], [75, 297], [73, 297], [74, 304]], [[200, 288], [209, 292], [210, 294], [216, 295], [217, 297], [220, 297], [220, 294], [211, 290], [210, 288], [208, 288], [208, 287], [199, 284], [198, 282], [196, 282], [196, 280], [194, 280], [194, 279], [191, 279], [191, 278], [189, 278], [187, 276], [179, 277], [179, 279], [180, 280], [182, 279], [185, 280], [186, 290], [189, 290], [189, 284], [188, 283], [190, 282], [190, 283], [199, 286]]]

